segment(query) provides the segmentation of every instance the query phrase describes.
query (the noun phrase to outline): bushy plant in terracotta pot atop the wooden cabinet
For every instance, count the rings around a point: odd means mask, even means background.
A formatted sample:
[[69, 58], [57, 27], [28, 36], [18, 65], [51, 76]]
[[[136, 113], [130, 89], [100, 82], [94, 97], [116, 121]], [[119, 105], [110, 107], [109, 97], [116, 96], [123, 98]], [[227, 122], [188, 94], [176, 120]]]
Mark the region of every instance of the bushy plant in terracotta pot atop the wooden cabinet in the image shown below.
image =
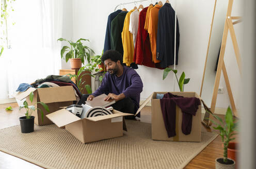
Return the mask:
[[88, 39], [80, 38], [76, 42], [71, 40], [66, 40], [63, 38], [59, 38], [58, 41], [67, 41], [70, 46], [63, 46], [60, 50], [60, 56], [64, 59], [63, 54], [65, 55], [65, 60], [68, 62], [70, 60], [71, 69], [79, 69], [82, 67], [82, 63], [85, 63], [85, 59], [87, 58], [88, 62], [90, 60], [90, 51], [92, 53], [93, 50], [88, 46], [84, 46], [81, 41], [89, 41]]

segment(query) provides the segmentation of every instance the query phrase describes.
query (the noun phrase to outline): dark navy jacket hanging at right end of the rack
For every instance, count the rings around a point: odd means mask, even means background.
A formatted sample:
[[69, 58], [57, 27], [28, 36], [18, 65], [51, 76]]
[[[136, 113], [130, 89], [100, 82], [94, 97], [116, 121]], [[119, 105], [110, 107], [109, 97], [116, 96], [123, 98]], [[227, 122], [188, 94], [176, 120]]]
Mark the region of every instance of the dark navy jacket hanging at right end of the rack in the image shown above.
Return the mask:
[[[179, 22], [176, 27], [176, 60], [178, 64], [178, 53], [180, 46]], [[171, 4], [165, 5], [158, 12], [158, 28], [156, 41], [156, 59], [161, 60], [161, 67], [174, 64], [174, 35], [175, 35], [175, 11]]]

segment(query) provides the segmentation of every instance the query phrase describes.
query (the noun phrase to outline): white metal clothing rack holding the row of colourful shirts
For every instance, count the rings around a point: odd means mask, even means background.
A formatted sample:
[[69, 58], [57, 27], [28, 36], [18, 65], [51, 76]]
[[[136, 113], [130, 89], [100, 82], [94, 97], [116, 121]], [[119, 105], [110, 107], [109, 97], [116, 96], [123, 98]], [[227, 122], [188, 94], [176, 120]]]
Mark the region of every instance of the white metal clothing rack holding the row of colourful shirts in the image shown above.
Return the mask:
[[[127, 5], [127, 4], [135, 4], [135, 3], [141, 3], [141, 2], [145, 2], [145, 1], [149, 1], [149, 0], [142, 0], [142, 1], [133, 1], [130, 3], [121, 3], [119, 5], [116, 6], [115, 10], [117, 10], [117, 7], [121, 5]], [[151, 0], [152, 1], [152, 0]], [[158, 1], [157, 1], [158, 2]], [[177, 0], [175, 0], [175, 8], [177, 7]], [[176, 69], [176, 30], [177, 30], [177, 9], [175, 9], [175, 32], [174, 32], [174, 65], [173, 65], [173, 69]], [[173, 74], [173, 91], [175, 92], [175, 74]]]

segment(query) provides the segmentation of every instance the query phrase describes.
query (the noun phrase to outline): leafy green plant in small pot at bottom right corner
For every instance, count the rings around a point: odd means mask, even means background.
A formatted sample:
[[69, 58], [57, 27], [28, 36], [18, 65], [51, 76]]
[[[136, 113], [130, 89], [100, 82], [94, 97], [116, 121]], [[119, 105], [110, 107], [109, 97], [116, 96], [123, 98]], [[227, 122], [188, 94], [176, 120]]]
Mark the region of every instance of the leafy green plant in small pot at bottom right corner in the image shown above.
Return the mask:
[[230, 107], [228, 107], [228, 109], [227, 109], [227, 112], [225, 115], [226, 124], [223, 123], [222, 119], [219, 116], [213, 114], [211, 111], [207, 111], [207, 112], [212, 114], [214, 116], [214, 118], [219, 122], [219, 123], [217, 123], [217, 122], [209, 119], [217, 126], [217, 127], [213, 127], [213, 128], [215, 130], [220, 131], [221, 140], [223, 142], [223, 150], [224, 150], [223, 157], [217, 158], [215, 160], [215, 167], [217, 169], [218, 168], [235, 168], [235, 161], [228, 158], [229, 142], [234, 140], [235, 138], [232, 138], [232, 137], [235, 134], [237, 134], [237, 133], [234, 133], [234, 131], [236, 131], [236, 129], [237, 129], [237, 123], [235, 123], [235, 120], [233, 119], [231, 109], [230, 109]]

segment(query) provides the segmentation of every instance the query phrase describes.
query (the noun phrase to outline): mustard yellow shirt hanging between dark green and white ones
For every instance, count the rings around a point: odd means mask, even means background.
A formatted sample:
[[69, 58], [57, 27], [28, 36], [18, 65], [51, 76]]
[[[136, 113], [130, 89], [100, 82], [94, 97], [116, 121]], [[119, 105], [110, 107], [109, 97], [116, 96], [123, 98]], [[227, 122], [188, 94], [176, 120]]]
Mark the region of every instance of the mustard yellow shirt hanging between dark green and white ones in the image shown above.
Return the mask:
[[130, 15], [133, 11], [134, 9], [126, 14], [123, 23], [123, 31], [121, 33], [123, 43], [123, 63], [125, 63], [127, 66], [130, 66], [130, 64], [133, 62], [134, 55], [133, 34], [129, 31]]

